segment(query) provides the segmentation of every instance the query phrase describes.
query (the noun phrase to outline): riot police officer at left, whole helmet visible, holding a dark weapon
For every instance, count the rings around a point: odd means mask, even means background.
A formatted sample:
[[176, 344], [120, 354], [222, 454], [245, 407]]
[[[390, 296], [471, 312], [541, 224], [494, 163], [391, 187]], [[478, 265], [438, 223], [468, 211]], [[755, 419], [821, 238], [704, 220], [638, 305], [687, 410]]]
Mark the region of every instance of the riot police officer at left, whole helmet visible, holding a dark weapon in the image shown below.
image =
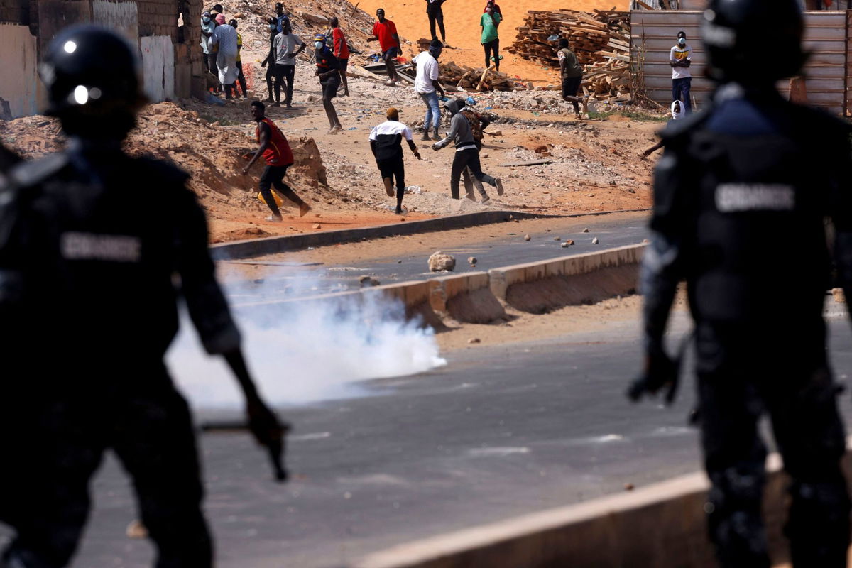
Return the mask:
[[163, 362], [181, 295], [208, 353], [237, 377], [257, 441], [281, 442], [187, 175], [122, 152], [144, 102], [137, 70], [114, 32], [61, 32], [40, 73], [68, 147], [15, 166], [0, 188], [0, 518], [17, 533], [0, 565], [68, 564], [107, 449], [133, 479], [156, 565], [212, 565], [191, 417]]

